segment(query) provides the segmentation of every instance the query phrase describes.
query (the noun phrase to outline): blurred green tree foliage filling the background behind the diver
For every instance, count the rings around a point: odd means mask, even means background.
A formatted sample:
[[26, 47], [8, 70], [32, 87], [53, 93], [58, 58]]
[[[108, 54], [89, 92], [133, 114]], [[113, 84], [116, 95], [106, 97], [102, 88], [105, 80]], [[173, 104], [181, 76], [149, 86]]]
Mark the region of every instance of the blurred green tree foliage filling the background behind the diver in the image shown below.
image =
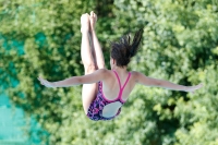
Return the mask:
[[[11, 100], [34, 116], [49, 144], [218, 144], [218, 3], [216, 0], [0, 1], [0, 82]], [[51, 81], [82, 75], [80, 16], [98, 14], [97, 34], [109, 64], [109, 41], [144, 26], [131, 70], [195, 94], [137, 86], [113, 121], [93, 122], [81, 87], [49, 89]], [[197, 141], [197, 142], [196, 142]]]

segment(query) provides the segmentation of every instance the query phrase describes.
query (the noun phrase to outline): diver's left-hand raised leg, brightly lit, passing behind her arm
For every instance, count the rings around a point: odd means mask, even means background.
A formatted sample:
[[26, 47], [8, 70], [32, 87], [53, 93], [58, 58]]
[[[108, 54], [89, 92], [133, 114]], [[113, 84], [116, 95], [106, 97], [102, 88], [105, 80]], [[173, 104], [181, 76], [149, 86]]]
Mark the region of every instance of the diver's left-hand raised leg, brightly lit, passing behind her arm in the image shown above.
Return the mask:
[[[81, 33], [82, 33], [82, 44], [81, 44], [81, 57], [85, 69], [85, 74], [93, 73], [96, 70], [96, 64], [94, 57], [92, 55], [90, 44], [89, 44], [89, 15], [83, 14], [81, 16]], [[83, 108], [87, 114], [89, 105], [96, 97], [97, 84], [84, 84], [82, 89], [82, 100]]]

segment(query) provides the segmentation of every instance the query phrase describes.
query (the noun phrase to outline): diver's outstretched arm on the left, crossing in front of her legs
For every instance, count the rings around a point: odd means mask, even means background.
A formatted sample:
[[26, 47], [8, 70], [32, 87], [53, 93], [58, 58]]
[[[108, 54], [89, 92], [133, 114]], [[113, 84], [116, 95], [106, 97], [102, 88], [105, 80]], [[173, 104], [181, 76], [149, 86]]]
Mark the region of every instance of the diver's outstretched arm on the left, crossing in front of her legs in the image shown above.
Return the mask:
[[45, 85], [47, 87], [69, 87], [74, 85], [92, 84], [99, 81], [104, 81], [104, 76], [107, 76], [106, 73], [106, 69], [100, 69], [87, 75], [72, 76], [70, 78], [65, 78], [63, 81], [58, 82], [48, 82], [47, 80], [44, 80], [41, 77], [38, 77], [38, 80], [40, 81], [41, 85]]

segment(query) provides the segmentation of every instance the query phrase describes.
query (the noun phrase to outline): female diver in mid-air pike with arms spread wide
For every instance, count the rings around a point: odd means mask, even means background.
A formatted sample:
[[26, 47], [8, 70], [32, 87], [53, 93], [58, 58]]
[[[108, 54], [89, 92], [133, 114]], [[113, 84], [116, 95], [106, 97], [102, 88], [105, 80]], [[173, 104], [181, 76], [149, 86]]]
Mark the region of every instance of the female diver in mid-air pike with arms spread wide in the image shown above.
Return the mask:
[[38, 77], [40, 83], [47, 87], [69, 87], [83, 84], [83, 108], [89, 119], [95, 121], [111, 120], [119, 116], [121, 107], [128, 100], [136, 84], [192, 93], [202, 87], [202, 84], [183, 86], [164, 80], [152, 78], [136, 71], [128, 72], [126, 67], [131, 58], [137, 52], [143, 29], [135, 33], [132, 43], [130, 36], [126, 35], [120, 41], [111, 44], [111, 70], [107, 70], [102, 50], [95, 33], [96, 21], [97, 15], [93, 11], [90, 15], [86, 13], [81, 16], [81, 56], [85, 75], [72, 76], [59, 82], [48, 82]]

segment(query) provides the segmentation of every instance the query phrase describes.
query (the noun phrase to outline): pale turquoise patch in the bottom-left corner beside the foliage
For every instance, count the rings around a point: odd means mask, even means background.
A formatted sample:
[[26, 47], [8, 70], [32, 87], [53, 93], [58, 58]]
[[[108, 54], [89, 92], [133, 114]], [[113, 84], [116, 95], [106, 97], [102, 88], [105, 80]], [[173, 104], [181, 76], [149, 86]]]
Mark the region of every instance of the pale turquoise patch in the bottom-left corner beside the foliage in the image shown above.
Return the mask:
[[21, 108], [12, 108], [9, 97], [0, 95], [0, 145], [26, 144], [24, 135], [24, 112]]

